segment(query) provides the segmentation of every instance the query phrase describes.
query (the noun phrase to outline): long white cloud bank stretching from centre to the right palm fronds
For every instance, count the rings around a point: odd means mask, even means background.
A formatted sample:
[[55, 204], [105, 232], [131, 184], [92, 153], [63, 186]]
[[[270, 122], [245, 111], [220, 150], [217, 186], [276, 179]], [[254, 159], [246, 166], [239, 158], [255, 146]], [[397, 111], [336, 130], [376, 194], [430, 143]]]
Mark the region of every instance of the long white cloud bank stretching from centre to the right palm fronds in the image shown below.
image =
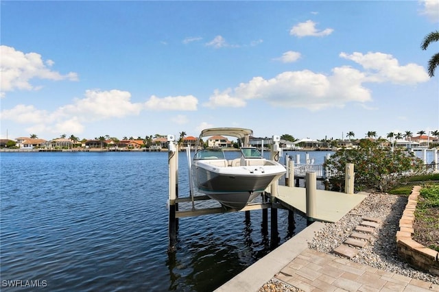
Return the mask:
[[413, 85], [429, 80], [422, 66], [401, 66], [385, 53], [340, 53], [340, 57], [359, 64], [363, 70], [339, 66], [328, 75], [302, 70], [286, 71], [268, 80], [253, 77], [236, 88], [215, 90], [204, 106], [236, 108], [246, 106], [251, 99], [261, 99], [287, 108], [343, 108], [349, 102], [364, 104], [372, 100], [370, 90], [364, 86], [368, 82]]

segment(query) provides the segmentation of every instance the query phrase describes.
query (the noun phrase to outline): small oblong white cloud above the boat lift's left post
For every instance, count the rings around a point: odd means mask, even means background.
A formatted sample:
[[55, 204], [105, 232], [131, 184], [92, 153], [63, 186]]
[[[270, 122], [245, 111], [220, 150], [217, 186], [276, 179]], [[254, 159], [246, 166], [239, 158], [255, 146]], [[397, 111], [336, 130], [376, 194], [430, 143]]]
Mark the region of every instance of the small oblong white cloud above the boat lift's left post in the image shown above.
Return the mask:
[[198, 99], [193, 95], [158, 98], [152, 95], [145, 102], [148, 110], [197, 110]]

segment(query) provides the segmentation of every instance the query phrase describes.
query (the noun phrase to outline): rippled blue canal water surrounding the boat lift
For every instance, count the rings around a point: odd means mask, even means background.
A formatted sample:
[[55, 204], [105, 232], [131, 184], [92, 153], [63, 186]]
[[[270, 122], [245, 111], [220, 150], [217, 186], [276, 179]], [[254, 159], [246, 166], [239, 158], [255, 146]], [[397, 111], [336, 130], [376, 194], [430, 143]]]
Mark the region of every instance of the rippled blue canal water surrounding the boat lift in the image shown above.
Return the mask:
[[[322, 161], [325, 152], [313, 154]], [[0, 161], [2, 291], [5, 280], [51, 291], [211, 291], [272, 250], [262, 212], [252, 211], [250, 222], [244, 212], [180, 219], [168, 254], [167, 153], [1, 153]], [[185, 197], [185, 154], [179, 165]], [[278, 210], [280, 243], [305, 228], [295, 219], [289, 231]]]

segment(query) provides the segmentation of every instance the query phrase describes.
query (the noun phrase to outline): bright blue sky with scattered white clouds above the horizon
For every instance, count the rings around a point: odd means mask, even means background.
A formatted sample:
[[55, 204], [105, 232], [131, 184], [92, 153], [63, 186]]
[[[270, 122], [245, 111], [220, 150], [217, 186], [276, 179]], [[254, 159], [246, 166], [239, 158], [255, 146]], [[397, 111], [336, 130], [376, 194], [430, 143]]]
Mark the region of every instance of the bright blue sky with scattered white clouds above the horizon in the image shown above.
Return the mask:
[[[1, 1], [1, 138], [439, 130], [429, 1]], [[416, 135], [415, 135], [416, 136]]]

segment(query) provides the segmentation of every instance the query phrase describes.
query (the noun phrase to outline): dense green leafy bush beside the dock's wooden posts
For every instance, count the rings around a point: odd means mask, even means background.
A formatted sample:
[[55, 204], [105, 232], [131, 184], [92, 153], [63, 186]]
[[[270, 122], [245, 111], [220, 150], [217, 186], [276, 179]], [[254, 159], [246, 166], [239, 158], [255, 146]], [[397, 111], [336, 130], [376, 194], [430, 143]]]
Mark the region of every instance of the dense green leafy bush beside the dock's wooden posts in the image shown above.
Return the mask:
[[407, 149], [392, 149], [376, 141], [361, 139], [357, 149], [340, 149], [325, 163], [331, 170], [330, 184], [344, 188], [346, 163], [355, 165], [355, 190], [386, 192], [407, 176], [423, 173], [423, 161]]

